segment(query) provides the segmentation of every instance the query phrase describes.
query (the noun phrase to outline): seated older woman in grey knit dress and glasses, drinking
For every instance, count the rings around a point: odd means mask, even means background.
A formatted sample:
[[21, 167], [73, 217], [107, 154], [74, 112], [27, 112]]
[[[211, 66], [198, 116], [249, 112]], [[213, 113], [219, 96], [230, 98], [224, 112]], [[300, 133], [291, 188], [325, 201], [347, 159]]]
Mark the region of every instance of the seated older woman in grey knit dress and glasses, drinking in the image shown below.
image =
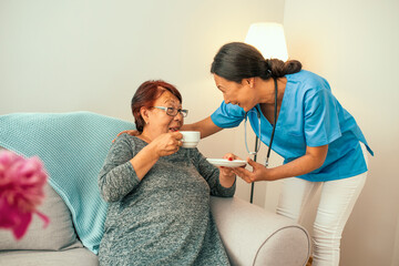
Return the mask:
[[100, 264], [228, 265], [209, 195], [232, 197], [234, 173], [181, 147], [187, 111], [173, 85], [144, 82], [132, 112], [139, 135], [119, 136], [99, 175], [110, 203]]

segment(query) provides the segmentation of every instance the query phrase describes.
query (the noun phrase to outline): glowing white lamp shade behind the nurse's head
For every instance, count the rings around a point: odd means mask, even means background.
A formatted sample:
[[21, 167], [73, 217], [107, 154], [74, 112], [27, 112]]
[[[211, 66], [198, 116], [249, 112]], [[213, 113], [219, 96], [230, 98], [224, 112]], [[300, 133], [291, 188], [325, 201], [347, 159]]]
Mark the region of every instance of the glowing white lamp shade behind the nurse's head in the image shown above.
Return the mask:
[[288, 59], [284, 28], [275, 22], [250, 24], [245, 42], [258, 49], [265, 59]]

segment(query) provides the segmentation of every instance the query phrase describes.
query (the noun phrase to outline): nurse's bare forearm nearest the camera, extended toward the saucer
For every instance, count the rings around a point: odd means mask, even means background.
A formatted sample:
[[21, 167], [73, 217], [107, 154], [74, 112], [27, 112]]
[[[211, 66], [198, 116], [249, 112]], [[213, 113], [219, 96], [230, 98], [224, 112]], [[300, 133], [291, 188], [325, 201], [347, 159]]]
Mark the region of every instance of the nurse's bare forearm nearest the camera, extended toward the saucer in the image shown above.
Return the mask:
[[319, 147], [307, 147], [306, 154], [287, 164], [268, 168], [265, 176], [268, 181], [282, 180], [308, 174], [324, 164], [327, 156], [328, 145]]

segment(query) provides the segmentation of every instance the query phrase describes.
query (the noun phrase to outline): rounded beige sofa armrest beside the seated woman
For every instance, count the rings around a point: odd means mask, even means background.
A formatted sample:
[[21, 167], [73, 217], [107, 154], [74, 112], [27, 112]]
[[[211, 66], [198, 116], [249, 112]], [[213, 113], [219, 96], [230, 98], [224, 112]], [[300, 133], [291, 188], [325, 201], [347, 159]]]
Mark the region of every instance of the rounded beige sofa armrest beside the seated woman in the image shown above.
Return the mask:
[[306, 265], [310, 238], [294, 221], [237, 197], [212, 196], [211, 209], [232, 265]]

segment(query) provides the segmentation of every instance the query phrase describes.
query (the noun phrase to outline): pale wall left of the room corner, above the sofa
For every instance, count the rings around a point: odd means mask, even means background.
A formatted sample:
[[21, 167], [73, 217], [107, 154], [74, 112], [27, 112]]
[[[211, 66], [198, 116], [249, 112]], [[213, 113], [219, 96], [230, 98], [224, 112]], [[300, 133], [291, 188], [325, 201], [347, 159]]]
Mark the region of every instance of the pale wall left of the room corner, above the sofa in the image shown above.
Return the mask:
[[[131, 120], [136, 88], [164, 79], [190, 109], [185, 122], [196, 122], [223, 100], [209, 74], [217, 49], [283, 13], [284, 1], [273, 0], [0, 0], [0, 114], [86, 110]], [[200, 149], [244, 157], [241, 134], [224, 131]], [[239, 181], [237, 195], [248, 198], [249, 186]]]

